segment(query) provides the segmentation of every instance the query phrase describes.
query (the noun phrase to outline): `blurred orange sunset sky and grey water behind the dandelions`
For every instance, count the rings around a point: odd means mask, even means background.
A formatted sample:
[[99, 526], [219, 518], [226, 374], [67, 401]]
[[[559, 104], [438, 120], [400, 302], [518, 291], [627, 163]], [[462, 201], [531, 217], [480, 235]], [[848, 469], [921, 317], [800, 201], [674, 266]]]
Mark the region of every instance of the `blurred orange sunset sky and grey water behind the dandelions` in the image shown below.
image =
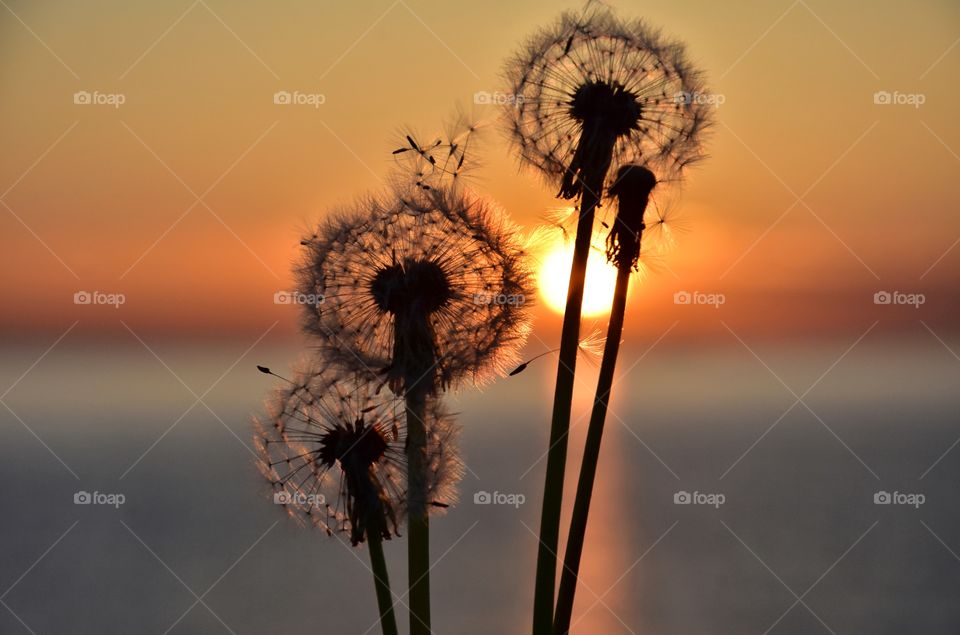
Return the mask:
[[[541, 224], [559, 201], [484, 95], [578, 6], [0, 2], [0, 632], [377, 632], [366, 554], [253, 467], [254, 365], [307, 346], [277, 293], [401, 131], [458, 110], [472, 186]], [[613, 6], [687, 43], [718, 124], [634, 285], [575, 632], [956, 633], [960, 6]], [[559, 324], [540, 302], [525, 355]], [[437, 633], [528, 628], [555, 363], [452, 397]]]

